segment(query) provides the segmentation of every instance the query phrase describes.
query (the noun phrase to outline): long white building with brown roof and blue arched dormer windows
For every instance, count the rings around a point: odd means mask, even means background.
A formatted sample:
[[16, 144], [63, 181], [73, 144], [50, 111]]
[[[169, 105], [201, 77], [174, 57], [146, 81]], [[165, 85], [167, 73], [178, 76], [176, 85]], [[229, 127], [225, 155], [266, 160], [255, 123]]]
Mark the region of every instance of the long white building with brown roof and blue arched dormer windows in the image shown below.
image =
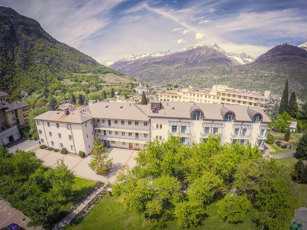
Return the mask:
[[183, 144], [220, 134], [221, 144], [250, 142], [264, 149], [271, 123], [260, 107], [193, 102], [93, 102], [80, 109], [48, 111], [34, 118], [42, 144], [71, 153], [92, 149], [95, 133], [105, 146], [143, 149], [146, 142], [170, 135]]

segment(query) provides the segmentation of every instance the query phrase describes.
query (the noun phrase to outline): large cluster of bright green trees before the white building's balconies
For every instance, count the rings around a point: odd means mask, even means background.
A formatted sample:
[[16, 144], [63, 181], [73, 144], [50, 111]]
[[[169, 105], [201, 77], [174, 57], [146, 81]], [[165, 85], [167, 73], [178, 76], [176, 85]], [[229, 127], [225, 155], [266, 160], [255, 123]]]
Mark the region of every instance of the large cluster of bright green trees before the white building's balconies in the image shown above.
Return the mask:
[[144, 224], [157, 223], [167, 212], [178, 226], [191, 227], [201, 224], [206, 206], [226, 191], [218, 202], [224, 220], [242, 222], [253, 207], [259, 228], [288, 229], [297, 197], [287, 171], [274, 159], [262, 158], [256, 146], [221, 146], [220, 138], [192, 145], [173, 136], [153, 140], [139, 152], [136, 166], [118, 176], [113, 194], [124, 194], [124, 206]]

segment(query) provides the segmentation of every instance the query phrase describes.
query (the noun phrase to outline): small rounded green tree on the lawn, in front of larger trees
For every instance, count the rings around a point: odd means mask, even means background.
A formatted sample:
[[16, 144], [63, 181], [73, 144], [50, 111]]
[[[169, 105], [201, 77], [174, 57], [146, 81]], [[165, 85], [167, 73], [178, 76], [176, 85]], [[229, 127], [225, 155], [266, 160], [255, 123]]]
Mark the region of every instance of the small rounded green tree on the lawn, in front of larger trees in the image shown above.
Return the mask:
[[249, 209], [247, 195], [238, 196], [228, 193], [222, 200], [217, 202], [217, 213], [223, 220], [229, 223], [243, 222]]

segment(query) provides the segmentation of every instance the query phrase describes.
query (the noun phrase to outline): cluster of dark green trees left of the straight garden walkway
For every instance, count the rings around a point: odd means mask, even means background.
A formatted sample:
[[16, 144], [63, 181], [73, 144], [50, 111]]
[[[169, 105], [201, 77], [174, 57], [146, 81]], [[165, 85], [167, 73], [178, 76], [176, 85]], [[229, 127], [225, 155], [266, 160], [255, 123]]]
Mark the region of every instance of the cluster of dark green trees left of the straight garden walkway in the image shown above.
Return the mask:
[[35, 152], [13, 154], [0, 146], [1, 197], [31, 219], [29, 227], [46, 225], [59, 215], [58, 198], [67, 200], [72, 195], [74, 179], [63, 160], [46, 168]]

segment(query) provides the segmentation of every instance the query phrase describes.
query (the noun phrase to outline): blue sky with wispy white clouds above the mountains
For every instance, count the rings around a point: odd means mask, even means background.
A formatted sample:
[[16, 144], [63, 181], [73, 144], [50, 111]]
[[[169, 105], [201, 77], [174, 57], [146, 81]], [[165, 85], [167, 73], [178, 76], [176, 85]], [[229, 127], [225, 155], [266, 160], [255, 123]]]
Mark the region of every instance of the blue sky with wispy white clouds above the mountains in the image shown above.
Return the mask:
[[132, 54], [216, 43], [257, 57], [307, 41], [307, 0], [0, 0], [102, 64]]

